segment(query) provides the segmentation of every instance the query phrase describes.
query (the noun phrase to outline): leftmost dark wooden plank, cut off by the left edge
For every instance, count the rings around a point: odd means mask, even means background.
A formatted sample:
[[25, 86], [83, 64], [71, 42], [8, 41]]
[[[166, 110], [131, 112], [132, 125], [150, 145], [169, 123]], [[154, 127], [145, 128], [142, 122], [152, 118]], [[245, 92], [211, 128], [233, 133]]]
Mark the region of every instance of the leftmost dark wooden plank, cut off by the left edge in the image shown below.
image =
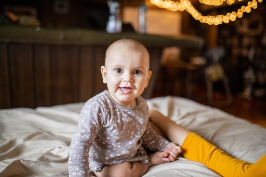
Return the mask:
[[10, 108], [7, 45], [0, 43], [0, 109]]

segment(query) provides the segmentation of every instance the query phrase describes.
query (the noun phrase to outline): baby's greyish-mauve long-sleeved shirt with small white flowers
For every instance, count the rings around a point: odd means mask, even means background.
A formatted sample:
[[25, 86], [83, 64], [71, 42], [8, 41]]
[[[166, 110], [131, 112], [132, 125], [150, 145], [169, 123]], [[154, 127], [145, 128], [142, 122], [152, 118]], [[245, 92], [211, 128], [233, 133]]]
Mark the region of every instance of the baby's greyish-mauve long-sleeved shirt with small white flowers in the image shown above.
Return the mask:
[[123, 107], [106, 90], [81, 110], [69, 149], [69, 176], [88, 176], [89, 170], [98, 172], [125, 161], [148, 163], [143, 146], [162, 151], [168, 143], [150, 127], [143, 98], [137, 98], [135, 107]]

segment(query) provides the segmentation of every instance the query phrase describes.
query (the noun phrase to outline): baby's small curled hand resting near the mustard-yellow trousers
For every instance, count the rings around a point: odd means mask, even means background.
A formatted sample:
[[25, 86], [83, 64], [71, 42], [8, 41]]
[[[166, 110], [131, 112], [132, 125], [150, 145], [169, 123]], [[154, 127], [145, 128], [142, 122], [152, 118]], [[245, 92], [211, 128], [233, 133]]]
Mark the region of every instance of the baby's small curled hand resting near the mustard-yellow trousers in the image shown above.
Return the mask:
[[177, 158], [178, 154], [182, 152], [182, 149], [180, 146], [177, 146], [175, 143], [170, 142], [166, 145], [163, 152], [169, 154], [167, 158], [164, 158], [164, 160], [170, 162], [174, 161]]

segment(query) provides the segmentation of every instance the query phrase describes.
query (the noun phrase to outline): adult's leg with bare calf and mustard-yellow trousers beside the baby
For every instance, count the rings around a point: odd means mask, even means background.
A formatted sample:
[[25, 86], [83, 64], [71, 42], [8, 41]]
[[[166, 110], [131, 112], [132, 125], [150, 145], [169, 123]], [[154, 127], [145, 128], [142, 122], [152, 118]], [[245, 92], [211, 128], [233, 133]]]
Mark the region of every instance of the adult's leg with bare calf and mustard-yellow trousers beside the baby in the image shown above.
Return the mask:
[[233, 158], [201, 138], [194, 132], [176, 124], [158, 111], [150, 111], [153, 121], [172, 142], [182, 147], [182, 154], [188, 160], [205, 164], [222, 176], [241, 176], [250, 163]]

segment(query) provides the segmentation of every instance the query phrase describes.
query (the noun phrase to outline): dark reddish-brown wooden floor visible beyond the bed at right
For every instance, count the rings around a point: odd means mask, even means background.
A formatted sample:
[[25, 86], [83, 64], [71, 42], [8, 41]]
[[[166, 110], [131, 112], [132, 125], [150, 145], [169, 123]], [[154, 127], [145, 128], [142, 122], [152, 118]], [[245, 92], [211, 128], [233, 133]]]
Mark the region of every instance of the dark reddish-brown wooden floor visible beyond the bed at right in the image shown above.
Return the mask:
[[[168, 70], [166, 70], [168, 71]], [[209, 105], [207, 101], [207, 92], [204, 80], [202, 83], [193, 84], [192, 89], [190, 89], [191, 94], [187, 94], [187, 85], [185, 85], [185, 77], [178, 77], [177, 75], [182, 75], [184, 73], [175, 73], [169, 75], [166, 73], [167, 77], [162, 77], [158, 79], [153, 97], [162, 97], [162, 96], [178, 96], [186, 97], [189, 96], [189, 99], [192, 99], [196, 102], [199, 102], [204, 105]], [[172, 76], [172, 77], [171, 77]], [[224, 100], [225, 94], [220, 92], [213, 93], [213, 98], [217, 100]], [[252, 98], [250, 100], [239, 96], [238, 94], [233, 95], [233, 102], [229, 106], [219, 107], [219, 109], [233, 114], [237, 117], [247, 119], [252, 123], [260, 124], [266, 127], [266, 98]]]

